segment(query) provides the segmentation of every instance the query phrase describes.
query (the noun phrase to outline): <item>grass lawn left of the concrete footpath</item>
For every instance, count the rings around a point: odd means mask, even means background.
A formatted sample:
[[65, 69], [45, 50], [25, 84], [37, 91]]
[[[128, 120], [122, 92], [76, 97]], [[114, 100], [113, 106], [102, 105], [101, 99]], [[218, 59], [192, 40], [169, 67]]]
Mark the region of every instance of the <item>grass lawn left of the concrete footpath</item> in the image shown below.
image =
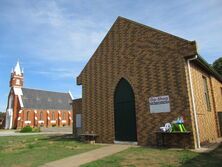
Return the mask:
[[34, 167], [86, 152], [99, 145], [84, 144], [64, 136], [0, 137], [0, 167]]

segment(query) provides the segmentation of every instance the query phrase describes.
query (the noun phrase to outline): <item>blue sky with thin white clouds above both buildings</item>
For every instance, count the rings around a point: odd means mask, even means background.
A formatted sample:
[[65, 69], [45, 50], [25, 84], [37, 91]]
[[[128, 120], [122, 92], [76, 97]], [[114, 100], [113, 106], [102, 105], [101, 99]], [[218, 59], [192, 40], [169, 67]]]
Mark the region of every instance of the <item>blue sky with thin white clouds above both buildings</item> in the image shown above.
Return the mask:
[[222, 56], [221, 0], [0, 0], [0, 111], [18, 60], [24, 87], [81, 97], [76, 77], [118, 16], [195, 40], [208, 63]]

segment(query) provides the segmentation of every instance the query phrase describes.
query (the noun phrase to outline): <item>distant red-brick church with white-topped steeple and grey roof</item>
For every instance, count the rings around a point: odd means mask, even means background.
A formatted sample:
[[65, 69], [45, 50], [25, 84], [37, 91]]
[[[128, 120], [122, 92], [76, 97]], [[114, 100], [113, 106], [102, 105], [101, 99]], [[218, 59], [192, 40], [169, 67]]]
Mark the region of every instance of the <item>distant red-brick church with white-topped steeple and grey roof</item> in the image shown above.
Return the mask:
[[11, 72], [6, 109], [6, 129], [72, 126], [72, 95], [23, 87], [19, 62]]

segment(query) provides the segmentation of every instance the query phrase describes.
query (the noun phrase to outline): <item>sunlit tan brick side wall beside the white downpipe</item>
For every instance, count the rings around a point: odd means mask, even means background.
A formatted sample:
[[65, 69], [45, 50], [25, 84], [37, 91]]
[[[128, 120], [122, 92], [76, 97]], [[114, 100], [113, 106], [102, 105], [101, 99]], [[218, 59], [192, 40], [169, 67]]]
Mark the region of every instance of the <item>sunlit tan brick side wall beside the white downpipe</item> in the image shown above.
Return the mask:
[[[202, 144], [208, 142], [215, 142], [218, 134], [216, 126], [214, 99], [212, 93], [213, 87], [211, 84], [212, 77], [204, 70], [202, 70], [199, 66], [193, 63], [191, 63], [191, 73], [193, 80], [196, 110], [197, 110], [200, 142]], [[210, 100], [210, 111], [207, 109], [207, 104], [204, 96], [203, 76], [207, 78], [208, 93]]]

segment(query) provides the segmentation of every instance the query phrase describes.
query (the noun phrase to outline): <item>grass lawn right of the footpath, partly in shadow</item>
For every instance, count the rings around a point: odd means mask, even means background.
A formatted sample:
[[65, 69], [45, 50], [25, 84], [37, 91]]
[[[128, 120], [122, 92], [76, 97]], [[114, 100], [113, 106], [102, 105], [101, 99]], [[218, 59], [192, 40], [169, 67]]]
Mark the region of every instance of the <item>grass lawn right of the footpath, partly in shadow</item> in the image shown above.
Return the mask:
[[216, 167], [221, 164], [222, 145], [211, 153], [132, 147], [81, 167]]

